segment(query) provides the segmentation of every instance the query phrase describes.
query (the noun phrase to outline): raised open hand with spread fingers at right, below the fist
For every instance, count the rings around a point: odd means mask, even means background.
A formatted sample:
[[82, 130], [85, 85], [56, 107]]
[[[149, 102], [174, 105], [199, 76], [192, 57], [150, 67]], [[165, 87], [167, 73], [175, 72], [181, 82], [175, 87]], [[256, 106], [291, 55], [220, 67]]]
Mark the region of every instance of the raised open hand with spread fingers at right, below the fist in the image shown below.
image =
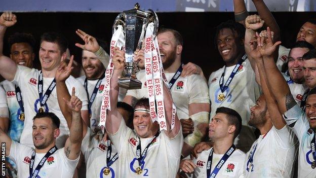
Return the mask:
[[267, 57], [272, 56], [272, 54], [277, 49], [278, 45], [281, 44], [280, 41], [275, 42], [273, 44], [272, 34], [269, 27], [267, 27], [267, 39], [260, 37], [258, 33], [256, 35], [257, 35], [257, 44], [258, 44], [259, 52], [262, 56], [267, 56]]

